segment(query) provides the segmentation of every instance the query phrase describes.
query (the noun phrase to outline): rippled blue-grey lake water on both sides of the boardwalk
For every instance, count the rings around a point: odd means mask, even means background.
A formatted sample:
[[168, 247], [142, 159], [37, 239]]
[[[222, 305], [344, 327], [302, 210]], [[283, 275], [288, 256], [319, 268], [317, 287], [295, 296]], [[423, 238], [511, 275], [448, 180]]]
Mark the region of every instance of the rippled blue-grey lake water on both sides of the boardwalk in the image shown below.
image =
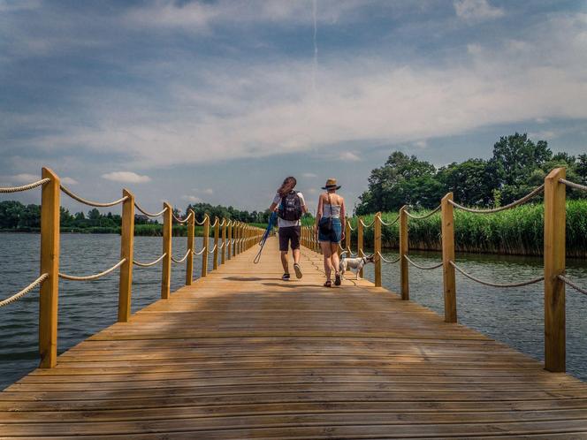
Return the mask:
[[[185, 254], [184, 237], [173, 238], [173, 254]], [[10, 296], [38, 277], [40, 236], [34, 234], [0, 234], [0, 298]], [[61, 271], [71, 275], [89, 275], [118, 262], [118, 235], [61, 236]], [[135, 260], [149, 262], [161, 254], [158, 237], [136, 237]], [[196, 248], [202, 239], [196, 238]], [[386, 254], [391, 259], [397, 254]], [[415, 253], [421, 264], [439, 262], [437, 253]], [[542, 259], [497, 256], [459, 255], [461, 266], [469, 273], [487, 280], [507, 283], [542, 274]], [[202, 257], [194, 257], [194, 277], [199, 276]], [[302, 262], [303, 263], [303, 262]], [[568, 260], [568, 276], [587, 285], [587, 261]], [[211, 256], [209, 268], [212, 267]], [[160, 297], [161, 265], [134, 269], [133, 312]], [[172, 292], [185, 282], [186, 265], [172, 264]], [[373, 279], [373, 265], [365, 276]], [[136, 281], [140, 280], [140, 281]], [[398, 292], [398, 264], [384, 264], [383, 283]], [[523, 353], [543, 359], [544, 284], [514, 289], [497, 289], [476, 284], [457, 273], [459, 322], [491, 338], [514, 346]], [[441, 269], [420, 270], [410, 267], [410, 299], [442, 315]], [[91, 282], [60, 281], [58, 350], [63, 353], [81, 340], [116, 322], [118, 307], [118, 271]], [[0, 390], [15, 382], [38, 365], [38, 290], [23, 299], [0, 308]], [[587, 297], [567, 289], [567, 365], [568, 372], [587, 380]]]

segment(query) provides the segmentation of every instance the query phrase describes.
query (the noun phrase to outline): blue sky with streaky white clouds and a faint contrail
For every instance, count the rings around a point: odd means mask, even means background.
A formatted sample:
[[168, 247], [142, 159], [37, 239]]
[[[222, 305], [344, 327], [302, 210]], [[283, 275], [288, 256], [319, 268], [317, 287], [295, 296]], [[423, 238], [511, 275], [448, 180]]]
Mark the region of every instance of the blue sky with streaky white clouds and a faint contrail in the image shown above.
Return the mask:
[[515, 132], [587, 152], [584, 0], [0, 0], [0, 186], [253, 210], [293, 175], [315, 210], [333, 177], [352, 207], [395, 150]]

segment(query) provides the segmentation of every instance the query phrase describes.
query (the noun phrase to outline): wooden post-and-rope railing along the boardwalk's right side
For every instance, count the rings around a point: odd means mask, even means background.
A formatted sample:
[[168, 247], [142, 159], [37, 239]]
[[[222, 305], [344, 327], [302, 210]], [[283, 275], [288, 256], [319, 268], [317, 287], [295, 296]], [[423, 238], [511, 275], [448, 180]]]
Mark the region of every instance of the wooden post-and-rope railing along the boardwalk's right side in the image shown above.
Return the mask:
[[[350, 219], [345, 219], [345, 222], [347, 231], [357, 231], [356, 249], [358, 255], [364, 255], [364, 229], [373, 227], [373, 247], [377, 255], [374, 270], [374, 282], [376, 286], [381, 286], [381, 262], [389, 264], [400, 262], [400, 295], [402, 300], [409, 300], [409, 265], [422, 270], [443, 268], [443, 295], [446, 322], [457, 322], [455, 271], [458, 271], [463, 277], [467, 277], [471, 281], [497, 288], [521, 287], [544, 281], [545, 369], [553, 372], [564, 372], [566, 369], [565, 286], [568, 285], [577, 292], [587, 295], [587, 288], [579, 286], [572, 279], [568, 278], [565, 271], [566, 187], [579, 191], [587, 191], [587, 186], [567, 180], [566, 170], [564, 168], [556, 168], [545, 177], [545, 183], [543, 185], [537, 186], [522, 198], [502, 207], [473, 209], [454, 201], [453, 193], [446, 193], [437, 208], [423, 215], [412, 214], [406, 205], [401, 207], [399, 215], [391, 223], [382, 221], [380, 212], [374, 215], [373, 220], [369, 224], [366, 224], [361, 216], [356, 217], [355, 228], [352, 227]], [[540, 193], [545, 194], [544, 275], [528, 280], [515, 281], [513, 283], [493, 283], [469, 274], [456, 263], [454, 256], [454, 209], [461, 209], [474, 214], [494, 214], [520, 206]], [[442, 262], [424, 266], [414, 262], [408, 256], [408, 219], [423, 220], [438, 213], [441, 225]], [[398, 221], [400, 222], [400, 255], [397, 259], [386, 260], [383, 254], [381, 254], [381, 225], [387, 226], [395, 224]], [[340, 249], [345, 249], [350, 253], [350, 235], [350, 233], [347, 234], [345, 247], [339, 246], [339, 252]], [[304, 226], [301, 237], [304, 246], [314, 249], [316, 252], [320, 251], [313, 228]], [[360, 275], [362, 276], [362, 271]]]

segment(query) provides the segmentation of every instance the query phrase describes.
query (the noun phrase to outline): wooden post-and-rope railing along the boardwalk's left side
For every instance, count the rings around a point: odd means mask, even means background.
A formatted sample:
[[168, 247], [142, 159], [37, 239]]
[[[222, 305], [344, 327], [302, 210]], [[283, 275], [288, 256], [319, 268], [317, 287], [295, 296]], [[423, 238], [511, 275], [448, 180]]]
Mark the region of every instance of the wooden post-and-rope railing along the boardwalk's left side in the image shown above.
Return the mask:
[[[135, 201], [133, 193], [126, 189], [122, 191], [122, 197], [116, 201], [99, 202], [90, 201], [73, 193], [69, 188], [61, 184], [60, 178], [48, 168], [42, 169], [42, 178], [33, 183], [23, 186], [0, 187], [0, 193], [19, 193], [28, 191], [36, 187], [42, 188], [41, 201], [41, 270], [38, 278], [33, 283], [28, 284], [10, 297], [0, 300], [0, 307], [7, 306], [12, 302], [32, 292], [36, 287], [40, 287], [39, 295], [39, 352], [41, 355], [40, 368], [52, 368], [57, 365], [57, 298], [58, 298], [58, 279], [71, 281], [91, 281], [111, 274], [116, 269], [120, 269], [118, 285], [118, 322], [127, 322], [131, 315], [131, 293], [133, 284], [133, 266], [149, 268], [155, 266], [158, 262], [162, 264], [161, 279], [161, 297], [167, 299], [170, 297], [171, 286], [171, 263], [186, 262], [186, 285], [194, 281], [194, 255], [202, 255], [202, 274], [206, 277], [208, 274], [209, 253], [214, 253], [214, 267], [217, 269], [217, 251], [222, 249], [221, 264], [225, 263], [225, 258], [230, 259], [233, 255], [240, 254], [248, 247], [252, 247], [255, 239], [259, 239], [263, 230], [242, 222], [223, 218], [219, 221], [216, 218], [212, 227], [215, 227], [215, 245], [209, 251], [210, 235], [210, 216], [205, 215], [202, 222], [195, 220], [194, 210], [190, 209], [187, 216], [178, 218], [173, 213], [172, 205], [165, 202], [163, 210], [157, 213], [151, 213], [141, 207]], [[88, 206], [95, 208], [108, 208], [122, 205], [122, 223], [120, 229], [120, 260], [110, 269], [103, 270], [94, 275], [74, 276], [59, 271], [59, 216], [60, 216], [60, 193], [63, 192], [73, 200], [79, 201]], [[134, 240], [134, 209], [137, 209], [145, 216], [163, 218], [163, 252], [153, 262], [138, 262], [133, 259], [133, 240]], [[187, 226], [187, 251], [180, 259], [172, 256], [172, 221]], [[194, 229], [195, 224], [203, 226], [203, 245], [200, 252], [195, 252], [194, 248]], [[217, 244], [217, 229], [223, 228], [222, 244]], [[233, 232], [238, 239], [233, 238]], [[209, 252], [207, 252], [209, 251]]]

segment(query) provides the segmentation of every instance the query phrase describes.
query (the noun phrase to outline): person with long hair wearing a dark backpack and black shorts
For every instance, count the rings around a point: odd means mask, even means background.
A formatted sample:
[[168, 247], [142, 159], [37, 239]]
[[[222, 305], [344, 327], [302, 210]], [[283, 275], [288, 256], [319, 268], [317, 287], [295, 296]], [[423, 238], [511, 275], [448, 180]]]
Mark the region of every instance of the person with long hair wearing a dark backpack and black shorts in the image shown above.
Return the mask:
[[294, 271], [295, 277], [301, 278], [300, 268], [300, 234], [301, 234], [301, 216], [308, 212], [306, 201], [302, 193], [294, 191], [297, 181], [293, 177], [286, 178], [283, 184], [279, 186], [278, 193], [269, 207], [273, 212], [278, 211], [278, 228], [279, 228], [279, 251], [281, 252], [281, 265], [284, 274], [281, 277], [284, 281], [290, 279], [289, 263], [287, 259], [287, 250], [292, 247], [294, 254]]

